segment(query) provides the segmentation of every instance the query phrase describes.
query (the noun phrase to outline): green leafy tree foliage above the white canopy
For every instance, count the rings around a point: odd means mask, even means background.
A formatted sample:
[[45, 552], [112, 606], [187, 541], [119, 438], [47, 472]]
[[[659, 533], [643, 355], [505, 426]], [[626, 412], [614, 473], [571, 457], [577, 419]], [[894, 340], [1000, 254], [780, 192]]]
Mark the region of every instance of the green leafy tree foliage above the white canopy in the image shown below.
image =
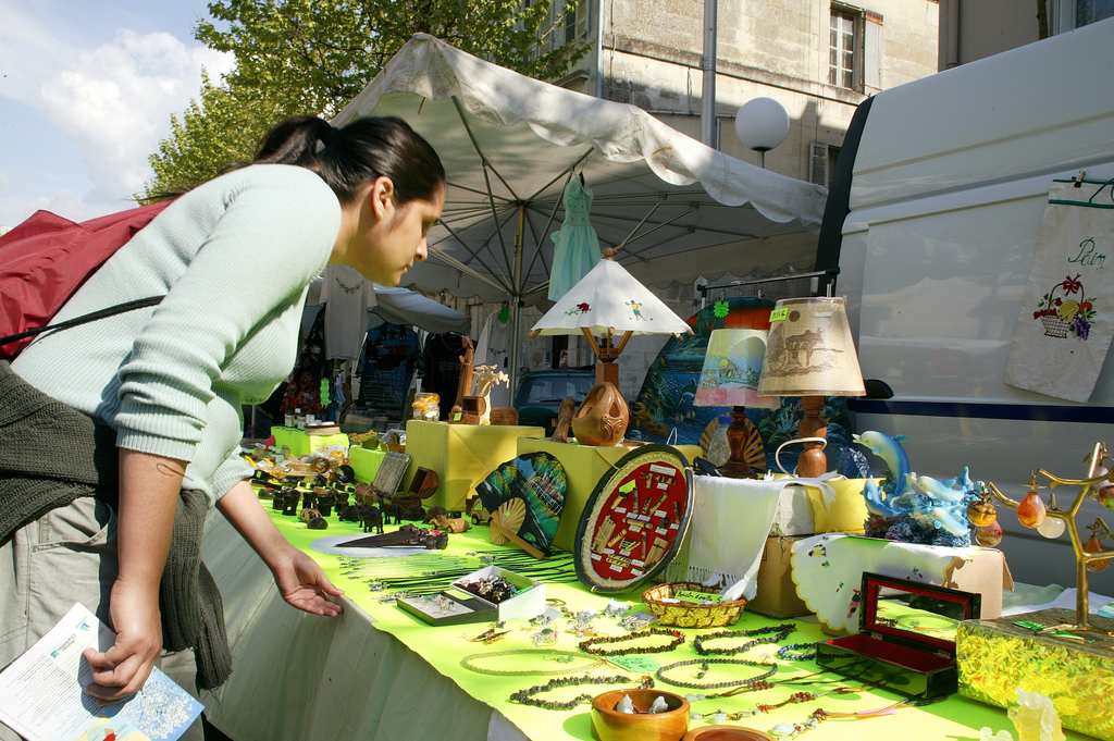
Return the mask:
[[180, 192], [250, 162], [263, 135], [294, 115], [340, 111], [414, 33], [524, 75], [556, 80], [587, 47], [541, 52], [549, 0], [214, 0], [197, 25], [206, 46], [235, 56], [221, 82], [172, 117], [152, 155], [144, 197]]

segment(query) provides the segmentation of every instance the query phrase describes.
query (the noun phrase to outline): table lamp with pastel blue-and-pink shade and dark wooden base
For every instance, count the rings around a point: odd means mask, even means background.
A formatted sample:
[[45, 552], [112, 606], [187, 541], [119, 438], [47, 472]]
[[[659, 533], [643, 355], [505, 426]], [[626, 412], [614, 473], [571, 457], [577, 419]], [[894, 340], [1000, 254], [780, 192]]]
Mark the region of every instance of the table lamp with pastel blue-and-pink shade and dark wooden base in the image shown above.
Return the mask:
[[[704, 369], [696, 388], [696, 407], [731, 407], [731, 427], [727, 428], [727, 445], [731, 459], [720, 467], [720, 472], [732, 478], [745, 478], [758, 472], [758, 455], [765, 461], [762, 438], [751, 420], [746, 419], [746, 407], [775, 409], [778, 400], [759, 396], [759, 378], [762, 359], [765, 357], [766, 332], [764, 330], [727, 329], [715, 330], [709, 338]], [[747, 456], [751, 452], [751, 456]]]

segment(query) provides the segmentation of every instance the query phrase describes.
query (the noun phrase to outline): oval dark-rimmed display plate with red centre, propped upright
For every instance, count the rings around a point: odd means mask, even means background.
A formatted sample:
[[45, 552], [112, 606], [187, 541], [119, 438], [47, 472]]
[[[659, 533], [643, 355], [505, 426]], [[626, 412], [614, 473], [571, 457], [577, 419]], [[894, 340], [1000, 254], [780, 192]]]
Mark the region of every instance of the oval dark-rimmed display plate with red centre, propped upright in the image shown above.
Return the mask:
[[647, 445], [599, 479], [576, 530], [576, 574], [593, 592], [625, 592], [673, 558], [693, 507], [692, 469], [676, 448]]

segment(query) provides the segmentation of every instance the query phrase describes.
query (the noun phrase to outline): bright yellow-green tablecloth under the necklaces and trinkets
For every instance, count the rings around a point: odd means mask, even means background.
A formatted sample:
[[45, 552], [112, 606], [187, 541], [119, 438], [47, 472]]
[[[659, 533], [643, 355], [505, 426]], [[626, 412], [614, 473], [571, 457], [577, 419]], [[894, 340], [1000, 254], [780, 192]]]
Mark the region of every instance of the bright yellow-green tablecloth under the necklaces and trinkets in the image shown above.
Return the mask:
[[[563, 599], [569, 610], [576, 612], [580, 610], [603, 611], [607, 604], [607, 597], [593, 595], [583, 588], [575, 578], [573, 567], [568, 556], [557, 556], [547, 562], [531, 562], [522, 557], [520, 553], [510, 548], [492, 546], [487, 540], [487, 529], [475, 528], [468, 534], [451, 536], [450, 546], [444, 552], [430, 552], [405, 558], [351, 558], [344, 556], [326, 555], [313, 549], [314, 540], [323, 536], [335, 536], [344, 533], [356, 534], [358, 529], [349, 524], [339, 524], [333, 518], [330, 528], [325, 532], [309, 530], [306, 527], [292, 517], [274, 516], [280, 530], [299, 548], [311, 554], [325, 569], [330, 578], [345, 592], [345, 599], [364, 611], [372, 621], [375, 628], [385, 631], [395, 636], [403, 645], [417, 653], [438, 673], [449, 677], [465, 693], [475, 698], [492, 709], [498, 710], [509, 719], [517, 728], [521, 729], [530, 739], [538, 741], [550, 739], [580, 739], [587, 741], [593, 738], [590, 728], [590, 716], [588, 706], [583, 705], [575, 711], [555, 712], [540, 710], [531, 706], [519, 705], [509, 702], [510, 693], [525, 686], [530, 686], [545, 682], [548, 677], [541, 676], [490, 676], [473, 673], [461, 667], [461, 657], [477, 653], [494, 653], [514, 649], [532, 647], [531, 634], [536, 628], [511, 623], [508, 625], [511, 633], [494, 645], [471, 642], [489, 624], [476, 624], [463, 626], [432, 627], [422, 623], [418, 618], [394, 606], [393, 602], [384, 602], [384, 595], [389, 595], [390, 587], [407, 584], [411, 588], [418, 587], [430, 591], [447, 586], [457, 575], [478, 568], [481, 566], [480, 556], [492, 555], [496, 563], [506, 565], [512, 571], [531, 573], [546, 572], [547, 596]], [[372, 591], [371, 586], [388, 586], [387, 592]], [[638, 601], [638, 595], [622, 595], [618, 598]], [[762, 616], [745, 613], [744, 617], [734, 627], [739, 630], [754, 628], [764, 625], [775, 624], [779, 621], [771, 621]], [[620, 634], [616, 621], [607, 617], [597, 617], [595, 627], [600, 633]], [[565, 621], [559, 621], [559, 644], [558, 647], [575, 650], [579, 640], [565, 628]], [[684, 659], [696, 657], [692, 650], [692, 636], [697, 631], [685, 631], [685, 645], [670, 654], [654, 654], [647, 657], [671, 663]], [[819, 626], [814, 623], [798, 622], [798, 630], [790, 637], [789, 642], [801, 643], [805, 641], [823, 640]], [[755, 650], [761, 655], [762, 649]], [[753, 655], [752, 655], [753, 657]], [[778, 679], [800, 676], [814, 671], [811, 662], [781, 664]], [[529, 664], [516, 663], [514, 657], [494, 657], [487, 664], [501, 670], [528, 670]], [[361, 671], [361, 667], [353, 666], [353, 671]], [[615, 667], [596, 670], [596, 674], [614, 674]], [[749, 675], [754, 673], [752, 669], [742, 669]], [[723, 679], [723, 670], [710, 673], [709, 680], [714, 675]], [[628, 673], [632, 677], [635, 674]], [[848, 684], [853, 682], [848, 681]], [[632, 682], [634, 684], [634, 681]], [[677, 691], [682, 694], [693, 692], [692, 690], [676, 689], [658, 683], [659, 688]], [[831, 685], [820, 685], [815, 691], [823, 692], [823, 689]], [[702, 712], [713, 712], [722, 710], [732, 712], [753, 708], [756, 703], [774, 703], [784, 700], [790, 693], [800, 691], [801, 686], [774, 688], [762, 693], [740, 694], [734, 698], [721, 700], [705, 700], [695, 704], [695, 709]], [[578, 694], [580, 692], [594, 692], [593, 688], [571, 688], [557, 691], [551, 696], [560, 698], [563, 694]], [[602, 690], [600, 690], [602, 691]], [[885, 692], [862, 692], [848, 696], [827, 696], [814, 702], [803, 704], [790, 704], [769, 714], [760, 714], [741, 722], [741, 725], [749, 725], [763, 731], [769, 731], [776, 723], [794, 722], [804, 720], [815, 708], [824, 708], [829, 711], [854, 711], [864, 709], [877, 709], [888, 705], [897, 700], [896, 695]], [[429, 712], [438, 712], [437, 709], [429, 709]], [[1005, 712], [981, 705], [959, 696], [950, 698], [946, 701], [918, 709], [902, 709], [891, 715], [862, 721], [831, 720], [822, 723], [817, 730], [808, 733], [807, 738], [817, 741], [836, 741], [840, 739], [897, 739], [902, 741], [915, 741], [917, 739], [941, 739], [977, 741], [979, 729], [988, 725], [994, 730], [1010, 728]], [[444, 738], [457, 738], [448, 733]], [[1068, 734], [1068, 738], [1081, 738]]]

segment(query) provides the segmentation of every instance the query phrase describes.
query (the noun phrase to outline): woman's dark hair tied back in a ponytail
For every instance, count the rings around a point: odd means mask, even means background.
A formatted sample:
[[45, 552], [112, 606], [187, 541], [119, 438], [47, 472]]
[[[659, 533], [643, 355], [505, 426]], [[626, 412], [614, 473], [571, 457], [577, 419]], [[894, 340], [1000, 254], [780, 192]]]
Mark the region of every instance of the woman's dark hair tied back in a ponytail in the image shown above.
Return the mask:
[[307, 167], [341, 203], [349, 203], [360, 185], [381, 176], [394, 183], [399, 204], [432, 201], [446, 179], [437, 152], [401, 118], [368, 116], [343, 128], [333, 128], [316, 116], [291, 118], [271, 129], [255, 163]]

